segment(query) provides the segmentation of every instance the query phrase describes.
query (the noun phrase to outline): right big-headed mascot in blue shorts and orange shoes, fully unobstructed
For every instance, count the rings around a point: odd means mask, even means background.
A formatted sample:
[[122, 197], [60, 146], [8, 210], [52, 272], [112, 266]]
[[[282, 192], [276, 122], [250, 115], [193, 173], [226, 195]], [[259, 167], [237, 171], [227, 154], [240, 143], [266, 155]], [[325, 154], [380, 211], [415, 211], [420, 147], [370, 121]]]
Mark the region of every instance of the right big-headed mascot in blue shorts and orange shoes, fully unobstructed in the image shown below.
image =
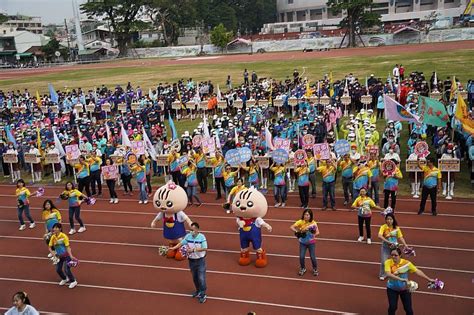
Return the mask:
[[269, 232], [272, 227], [263, 221], [268, 205], [265, 196], [254, 187], [244, 189], [237, 193], [232, 201], [232, 210], [237, 216], [237, 225], [240, 234], [240, 259], [239, 265], [250, 264], [250, 243], [257, 252], [255, 266], [263, 268], [267, 265], [267, 255], [262, 248], [262, 231], [265, 227]]

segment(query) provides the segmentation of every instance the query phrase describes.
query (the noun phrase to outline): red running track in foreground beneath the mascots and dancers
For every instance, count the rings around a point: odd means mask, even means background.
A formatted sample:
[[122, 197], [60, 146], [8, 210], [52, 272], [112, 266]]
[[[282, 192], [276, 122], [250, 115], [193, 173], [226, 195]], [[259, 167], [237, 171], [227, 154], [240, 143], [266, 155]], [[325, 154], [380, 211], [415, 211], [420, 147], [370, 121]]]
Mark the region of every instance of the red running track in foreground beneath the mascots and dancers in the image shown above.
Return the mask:
[[[321, 230], [316, 254], [320, 276], [303, 277], [298, 271], [298, 243], [289, 226], [301, 215], [299, 199], [290, 194], [286, 208], [269, 208], [265, 220], [272, 233], [264, 232], [269, 265], [257, 269], [237, 264], [239, 239], [235, 219], [224, 213], [215, 194], [201, 194], [205, 205], [188, 207], [186, 213], [198, 221], [206, 235], [208, 301], [200, 305], [193, 291], [187, 262], [161, 257], [161, 229], [149, 224], [156, 211], [151, 204], [139, 205], [134, 197], [110, 205], [99, 199], [83, 206], [87, 226], [71, 237], [74, 254], [81, 264], [74, 270], [79, 285], [59, 287], [42, 241], [40, 207], [45, 197], [54, 200], [61, 189], [48, 187], [46, 196], [31, 198], [31, 212], [38, 222], [34, 230], [18, 231], [13, 186], [0, 186], [0, 307], [11, 305], [11, 294], [27, 291], [39, 310], [69, 314], [384, 314], [387, 309], [385, 283], [378, 280], [380, 243], [376, 233], [383, 218], [374, 214], [374, 244], [357, 243], [357, 218], [347, 208], [320, 211], [320, 198], [312, 199]], [[34, 189], [32, 189], [34, 190]], [[121, 195], [121, 192], [119, 192]], [[269, 203], [273, 204], [270, 195]], [[220, 202], [220, 201], [219, 201]], [[338, 199], [340, 203], [340, 200]], [[58, 206], [67, 222], [66, 203]], [[339, 207], [339, 206], [338, 206]], [[429, 203], [427, 205], [427, 209]], [[407, 242], [416, 248], [411, 260], [429, 276], [446, 282], [441, 292], [430, 291], [420, 278], [413, 294], [417, 314], [472, 314], [474, 310], [474, 213], [469, 200], [440, 200], [437, 217], [418, 216], [418, 202], [402, 199], [397, 218]], [[67, 224], [66, 224], [67, 225]], [[255, 258], [255, 257], [253, 257]], [[307, 266], [310, 261], [307, 259]], [[403, 312], [401, 303], [399, 313]]]

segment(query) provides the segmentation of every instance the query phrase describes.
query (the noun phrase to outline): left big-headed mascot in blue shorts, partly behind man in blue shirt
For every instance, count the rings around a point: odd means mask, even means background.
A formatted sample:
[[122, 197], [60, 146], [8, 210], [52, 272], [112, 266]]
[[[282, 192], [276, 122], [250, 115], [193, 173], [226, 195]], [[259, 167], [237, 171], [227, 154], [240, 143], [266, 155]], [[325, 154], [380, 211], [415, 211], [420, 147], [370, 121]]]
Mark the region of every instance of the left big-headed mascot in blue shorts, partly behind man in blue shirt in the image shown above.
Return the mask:
[[[184, 222], [191, 227], [192, 221], [183, 211], [187, 202], [188, 197], [184, 189], [171, 181], [161, 186], [153, 196], [153, 206], [160, 212], [151, 222], [151, 227], [156, 227], [156, 222], [163, 220], [163, 237], [169, 241], [169, 247], [178, 244], [186, 235]], [[178, 250], [170, 249], [166, 257], [176, 260], [185, 259]]]

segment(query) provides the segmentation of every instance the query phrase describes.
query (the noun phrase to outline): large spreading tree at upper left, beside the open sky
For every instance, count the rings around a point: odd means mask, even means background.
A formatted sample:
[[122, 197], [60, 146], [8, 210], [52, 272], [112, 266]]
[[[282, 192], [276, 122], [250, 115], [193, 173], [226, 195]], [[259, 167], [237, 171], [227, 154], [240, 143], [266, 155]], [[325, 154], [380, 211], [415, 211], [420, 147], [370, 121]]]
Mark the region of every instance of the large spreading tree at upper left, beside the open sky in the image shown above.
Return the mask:
[[119, 56], [127, 52], [134, 32], [149, 25], [137, 19], [144, 5], [151, 0], [89, 0], [81, 4], [81, 11], [89, 17], [105, 17], [110, 22], [119, 49]]

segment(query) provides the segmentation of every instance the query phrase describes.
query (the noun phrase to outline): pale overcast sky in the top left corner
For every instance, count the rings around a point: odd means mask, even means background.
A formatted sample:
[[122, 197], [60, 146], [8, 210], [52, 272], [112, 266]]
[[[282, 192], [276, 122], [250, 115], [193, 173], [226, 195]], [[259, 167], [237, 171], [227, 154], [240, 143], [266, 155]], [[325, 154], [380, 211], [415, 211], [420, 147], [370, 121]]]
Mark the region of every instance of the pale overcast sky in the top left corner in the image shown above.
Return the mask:
[[[76, 0], [78, 5], [87, 0]], [[0, 12], [40, 16], [43, 24], [62, 24], [72, 18], [72, 0], [0, 0]]]

